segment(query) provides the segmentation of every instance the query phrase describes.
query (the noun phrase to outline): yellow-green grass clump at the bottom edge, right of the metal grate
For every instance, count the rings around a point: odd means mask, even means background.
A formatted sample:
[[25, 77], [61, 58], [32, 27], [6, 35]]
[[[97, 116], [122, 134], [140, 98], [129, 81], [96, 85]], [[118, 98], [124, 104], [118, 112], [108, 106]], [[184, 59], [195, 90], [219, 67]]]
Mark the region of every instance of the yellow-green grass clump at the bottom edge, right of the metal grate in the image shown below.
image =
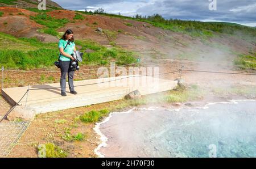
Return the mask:
[[[38, 149], [38, 151], [42, 151], [42, 149]], [[56, 146], [53, 143], [46, 144], [46, 158], [64, 158], [67, 156], [68, 153], [59, 146]]]

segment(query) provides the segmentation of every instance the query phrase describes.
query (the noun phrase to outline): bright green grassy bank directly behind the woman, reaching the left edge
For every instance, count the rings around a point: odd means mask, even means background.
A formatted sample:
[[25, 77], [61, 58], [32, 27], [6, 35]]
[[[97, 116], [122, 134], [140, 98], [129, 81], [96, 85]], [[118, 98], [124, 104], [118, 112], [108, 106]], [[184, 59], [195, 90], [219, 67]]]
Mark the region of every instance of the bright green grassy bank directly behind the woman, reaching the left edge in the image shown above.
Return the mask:
[[[109, 65], [115, 61], [117, 65], [136, 62], [135, 54], [119, 47], [106, 48], [93, 41], [76, 41], [85, 53], [82, 65]], [[54, 67], [53, 62], [59, 57], [57, 43], [42, 43], [36, 38], [16, 38], [0, 33], [0, 65], [6, 69], [36, 69]]]

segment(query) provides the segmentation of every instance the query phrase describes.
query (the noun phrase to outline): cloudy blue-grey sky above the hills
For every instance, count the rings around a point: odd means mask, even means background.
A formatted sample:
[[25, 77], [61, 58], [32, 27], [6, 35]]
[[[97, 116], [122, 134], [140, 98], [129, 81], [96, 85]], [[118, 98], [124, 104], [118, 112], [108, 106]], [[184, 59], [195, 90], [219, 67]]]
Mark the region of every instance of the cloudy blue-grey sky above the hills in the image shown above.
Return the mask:
[[[102, 8], [125, 16], [160, 14], [166, 19], [233, 22], [256, 27], [255, 0], [53, 0], [64, 9]], [[216, 2], [216, 3], [214, 3]], [[216, 5], [215, 5], [216, 4]], [[210, 7], [209, 7], [210, 6]]]

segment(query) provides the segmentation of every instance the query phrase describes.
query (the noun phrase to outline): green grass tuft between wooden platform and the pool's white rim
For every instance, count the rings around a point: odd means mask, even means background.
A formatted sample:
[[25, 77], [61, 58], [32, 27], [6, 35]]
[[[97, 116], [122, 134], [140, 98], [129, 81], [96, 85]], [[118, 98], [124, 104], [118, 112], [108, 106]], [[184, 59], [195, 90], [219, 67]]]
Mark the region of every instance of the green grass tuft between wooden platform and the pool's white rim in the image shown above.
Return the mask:
[[108, 109], [102, 109], [100, 111], [92, 110], [92, 111], [84, 113], [84, 115], [81, 115], [80, 120], [82, 122], [86, 122], [86, 123], [97, 122], [101, 119], [101, 117], [103, 117], [107, 113], [109, 113]]

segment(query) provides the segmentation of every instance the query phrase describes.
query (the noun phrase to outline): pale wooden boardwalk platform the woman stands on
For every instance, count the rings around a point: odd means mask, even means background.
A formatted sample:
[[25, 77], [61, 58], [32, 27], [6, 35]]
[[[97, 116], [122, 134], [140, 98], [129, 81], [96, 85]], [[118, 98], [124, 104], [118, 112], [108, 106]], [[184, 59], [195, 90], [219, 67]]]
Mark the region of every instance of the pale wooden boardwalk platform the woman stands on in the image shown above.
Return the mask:
[[[134, 90], [139, 90], [142, 95], [168, 91], [177, 86], [177, 81], [132, 75], [76, 81], [74, 84], [78, 94], [70, 94], [67, 83], [67, 96], [65, 97], [60, 95], [59, 83], [30, 86], [28, 95], [22, 99], [19, 105], [26, 104], [26, 107], [32, 109], [36, 114], [53, 112], [123, 99], [125, 95]], [[27, 86], [4, 88], [2, 95], [15, 105], [27, 89]]]

